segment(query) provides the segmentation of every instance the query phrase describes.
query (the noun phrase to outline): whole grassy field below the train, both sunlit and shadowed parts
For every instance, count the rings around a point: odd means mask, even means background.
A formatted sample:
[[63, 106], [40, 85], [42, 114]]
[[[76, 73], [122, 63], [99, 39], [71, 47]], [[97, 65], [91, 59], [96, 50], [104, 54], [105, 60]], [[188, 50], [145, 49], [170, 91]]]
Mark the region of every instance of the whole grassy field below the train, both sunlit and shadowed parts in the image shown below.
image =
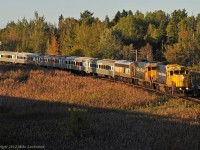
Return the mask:
[[198, 150], [199, 113], [198, 104], [126, 84], [0, 64], [0, 149]]

